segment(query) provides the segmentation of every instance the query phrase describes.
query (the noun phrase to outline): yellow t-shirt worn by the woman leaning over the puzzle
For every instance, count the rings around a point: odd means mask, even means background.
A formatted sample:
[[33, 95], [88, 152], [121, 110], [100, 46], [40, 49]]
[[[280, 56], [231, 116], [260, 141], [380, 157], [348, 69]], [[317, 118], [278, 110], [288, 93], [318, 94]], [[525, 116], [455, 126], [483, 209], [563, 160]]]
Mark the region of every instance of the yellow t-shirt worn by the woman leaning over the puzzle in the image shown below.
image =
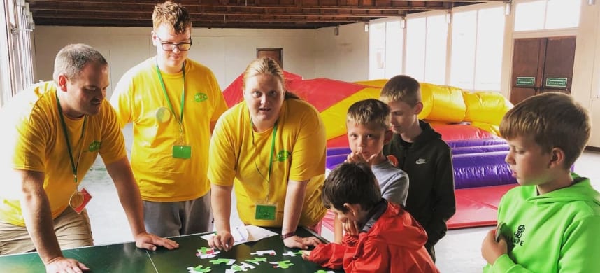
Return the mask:
[[[319, 113], [299, 99], [283, 102], [267, 183], [272, 139], [273, 128], [252, 130], [245, 102], [232, 107], [219, 119], [210, 140], [208, 179], [220, 186], [235, 184], [238, 214], [245, 224], [270, 227], [283, 223], [288, 180], [308, 180], [299, 225], [314, 225], [326, 212], [321, 202], [325, 129]], [[256, 220], [257, 203], [276, 204], [276, 221]]]

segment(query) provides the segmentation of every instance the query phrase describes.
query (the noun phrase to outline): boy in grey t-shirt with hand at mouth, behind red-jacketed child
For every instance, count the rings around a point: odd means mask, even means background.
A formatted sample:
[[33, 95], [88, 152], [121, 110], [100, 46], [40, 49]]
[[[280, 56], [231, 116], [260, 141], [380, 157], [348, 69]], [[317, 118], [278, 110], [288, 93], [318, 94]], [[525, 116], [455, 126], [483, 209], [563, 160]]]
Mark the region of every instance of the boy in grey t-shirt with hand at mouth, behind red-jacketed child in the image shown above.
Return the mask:
[[[371, 165], [385, 200], [404, 206], [408, 195], [408, 174], [394, 167], [383, 155], [383, 145], [392, 139], [390, 106], [378, 99], [355, 102], [348, 109], [346, 127], [352, 153], [346, 162], [366, 162]], [[341, 223], [334, 218], [334, 241], [341, 242], [343, 230], [355, 234], [356, 223]]]

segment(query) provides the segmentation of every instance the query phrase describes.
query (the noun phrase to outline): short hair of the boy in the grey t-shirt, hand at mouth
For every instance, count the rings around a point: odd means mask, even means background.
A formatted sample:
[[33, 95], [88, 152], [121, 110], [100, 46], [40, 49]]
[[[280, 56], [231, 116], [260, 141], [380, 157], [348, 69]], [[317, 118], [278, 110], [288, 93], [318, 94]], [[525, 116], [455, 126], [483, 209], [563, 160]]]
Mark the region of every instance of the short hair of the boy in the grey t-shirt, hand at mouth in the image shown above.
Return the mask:
[[346, 123], [377, 126], [381, 130], [390, 127], [390, 106], [379, 99], [355, 102], [348, 109]]

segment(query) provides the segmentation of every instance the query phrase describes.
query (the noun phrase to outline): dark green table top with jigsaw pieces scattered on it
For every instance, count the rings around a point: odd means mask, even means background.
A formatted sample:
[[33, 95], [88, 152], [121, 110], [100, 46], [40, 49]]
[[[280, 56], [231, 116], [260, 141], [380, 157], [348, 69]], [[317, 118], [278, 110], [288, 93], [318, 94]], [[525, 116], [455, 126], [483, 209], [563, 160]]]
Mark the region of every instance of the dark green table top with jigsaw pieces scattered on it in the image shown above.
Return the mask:
[[[276, 229], [269, 229], [278, 232]], [[312, 232], [300, 228], [297, 235], [301, 237], [314, 236]], [[200, 235], [185, 235], [180, 237], [171, 237], [173, 241], [179, 243], [176, 250], [166, 250], [159, 248], [157, 251], [146, 251], [136, 248], [133, 242], [124, 244], [110, 244], [106, 246], [88, 246], [83, 248], [73, 248], [62, 251], [65, 257], [73, 258], [83, 262], [92, 272], [194, 272], [188, 267], [200, 268], [210, 267], [210, 272], [225, 272], [231, 265], [213, 264], [210, 260], [234, 259], [236, 265], [252, 265], [255, 268], [248, 269], [246, 272], [327, 272], [331, 269], [323, 269], [312, 262], [302, 260], [301, 255], [283, 255], [288, 251], [297, 252], [298, 249], [287, 248], [283, 246], [283, 241], [278, 236], [262, 239], [254, 243], [240, 244], [234, 246], [231, 251], [218, 253], [214, 258], [201, 259], [196, 256], [197, 250], [208, 247], [208, 242], [200, 238]], [[322, 238], [320, 238], [322, 239]], [[325, 241], [322, 239], [322, 241]], [[251, 255], [256, 251], [273, 250], [276, 255]], [[245, 260], [252, 258], [265, 258], [265, 262], [259, 262], [258, 265]], [[276, 265], [270, 262], [286, 261], [287, 264], [293, 264], [287, 268], [276, 268]], [[285, 266], [285, 265], [284, 265]], [[37, 253], [24, 253], [16, 255], [0, 256], [0, 272], [45, 272], [43, 263]], [[341, 271], [338, 271], [341, 272]]]

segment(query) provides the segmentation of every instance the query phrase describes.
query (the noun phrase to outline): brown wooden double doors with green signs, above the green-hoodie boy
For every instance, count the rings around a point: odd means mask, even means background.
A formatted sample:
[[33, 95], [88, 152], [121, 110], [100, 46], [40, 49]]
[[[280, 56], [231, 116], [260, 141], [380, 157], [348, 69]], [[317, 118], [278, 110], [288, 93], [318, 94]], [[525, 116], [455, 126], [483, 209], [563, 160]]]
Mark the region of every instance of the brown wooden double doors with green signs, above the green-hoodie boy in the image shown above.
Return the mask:
[[515, 40], [510, 102], [541, 92], [571, 94], [575, 36]]

